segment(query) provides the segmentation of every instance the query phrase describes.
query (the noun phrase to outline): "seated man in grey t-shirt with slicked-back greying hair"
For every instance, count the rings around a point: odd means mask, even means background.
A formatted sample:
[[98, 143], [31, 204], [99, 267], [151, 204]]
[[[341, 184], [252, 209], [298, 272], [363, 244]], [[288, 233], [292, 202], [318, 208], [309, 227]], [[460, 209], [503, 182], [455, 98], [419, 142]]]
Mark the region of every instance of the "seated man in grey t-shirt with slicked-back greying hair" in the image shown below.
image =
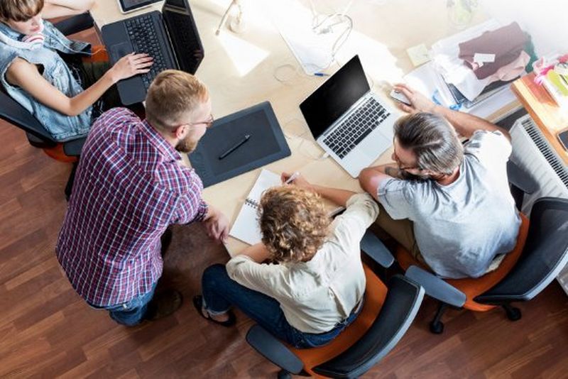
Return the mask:
[[[394, 165], [361, 171], [381, 204], [377, 223], [444, 278], [484, 275], [513, 250], [520, 217], [509, 192], [510, 136], [400, 84], [410, 115], [395, 123]], [[457, 133], [469, 142], [462, 147]]]

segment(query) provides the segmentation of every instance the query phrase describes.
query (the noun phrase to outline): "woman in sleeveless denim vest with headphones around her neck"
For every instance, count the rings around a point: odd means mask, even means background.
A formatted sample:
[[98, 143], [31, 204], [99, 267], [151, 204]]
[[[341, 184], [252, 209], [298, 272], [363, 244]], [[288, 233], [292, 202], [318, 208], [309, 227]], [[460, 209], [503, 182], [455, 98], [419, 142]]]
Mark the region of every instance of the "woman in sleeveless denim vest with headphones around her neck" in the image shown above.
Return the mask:
[[152, 65], [146, 54], [126, 55], [113, 67], [82, 62], [77, 57], [89, 56], [90, 45], [69, 40], [42, 19], [44, 10], [48, 17], [81, 13], [91, 1], [0, 2], [0, 82], [56, 141], [86, 135], [102, 111], [120, 105], [116, 87], [109, 89]]

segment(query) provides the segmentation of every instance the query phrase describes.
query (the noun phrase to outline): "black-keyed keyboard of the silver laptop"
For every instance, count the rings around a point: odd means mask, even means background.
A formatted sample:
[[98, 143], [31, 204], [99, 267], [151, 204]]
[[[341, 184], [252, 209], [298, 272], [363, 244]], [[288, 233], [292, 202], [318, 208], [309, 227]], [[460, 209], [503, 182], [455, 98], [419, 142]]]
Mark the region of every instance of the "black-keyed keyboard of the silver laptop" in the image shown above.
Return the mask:
[[324, 143], [339, 158], [344, 158], [390, 115], [376, 99], [371, 97], [324, 138]]

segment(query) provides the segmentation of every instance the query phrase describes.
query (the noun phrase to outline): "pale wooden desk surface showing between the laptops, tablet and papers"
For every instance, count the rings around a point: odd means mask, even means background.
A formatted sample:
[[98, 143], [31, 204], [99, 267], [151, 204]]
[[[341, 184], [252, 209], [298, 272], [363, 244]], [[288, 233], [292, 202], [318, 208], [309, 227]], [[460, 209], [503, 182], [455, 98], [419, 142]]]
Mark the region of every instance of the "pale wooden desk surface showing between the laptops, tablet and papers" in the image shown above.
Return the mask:
[[[190, 1], [205, 50], [204, 60], [196, 75], [209, 88], [216, 118], [268, 100], [285, 134], [290, 135], [297, 125], [307, 130], [298, 105], [325, 78], [303, 73], [280, 33], [263, 11], [263, 6], [273, 1], [286, 0], [245, 0], [246, 30], [235, 34], [225, 26], [220, 35], [215, 35], [215, 31], [230, 1]], [[349, 2], [313, 1], [317, 11], [325, 14], [342, 11]], [[309, 6], [307, 0], [302, 0], [302, 4]], [[119, 12], [116, 0], [98, 0], [92, 15], [97, 26], [101, 27], [121, 18], [160, 10], [161, 6], [160, 2], [124, 15]], [[440, 38], [458, 32], [448, 21], [445, 0], [358, 0], [354, 1], [348, 14], [354, 21], [354, 30], [339, 51], [337, 60], [343, 64], [354, 54], [359, 54], [373, 91], [393, 108], [393, 102], [386, 97], [383, 81], [399, 82], [403, 75], [413, 69], [405, 50], [420, 43], [430, 47]], [[479, 23], [485, 18], [478, 11], [472, 23]], [[275, 79], [275, 70], [282, 65], [296, 68], [295, 77], [288, 82]], [[326, 71], [332, 73], [338, 68], [339, 65], [334, 64]], [[290, 137], [287, 140], [292, 155], [266, 166], [268, 170], [277, 173], [299, 170], [312, 182], [361, 191], [357, 180], [344, 172], [332, 158], [314, 158], [322, 155], [322, 150], [315, 145], [309, 132], [305, 138]], [[391, 149], [383, 153], [376, 164], [388, 163], [390, 157]], [[259, 170], [208, 187], [204, 190], [204, 199], [221, 209], [232, 223]], [[245, 243], [229, 237], [226, 247], [231, 253], [236, 253], [245, 246]]]

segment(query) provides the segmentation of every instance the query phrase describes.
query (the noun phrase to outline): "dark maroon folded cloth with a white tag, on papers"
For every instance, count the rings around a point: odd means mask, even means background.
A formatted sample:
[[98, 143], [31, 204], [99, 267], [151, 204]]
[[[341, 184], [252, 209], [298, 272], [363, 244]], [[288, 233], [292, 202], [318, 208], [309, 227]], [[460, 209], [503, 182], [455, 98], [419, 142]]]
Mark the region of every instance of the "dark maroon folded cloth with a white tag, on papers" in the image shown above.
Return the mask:
[[[460, 43], [458, 57], [474, 70], [477, 79], [485, 79], [495, 74], [501, 67], [517, 60], [526, 42], [527, 36], [518, 23], [513, 22], [508, 26], [488, 31], [477, 38]], [[494, 60], [479, 65], [474, 60], [476, 54], [494, 55]]]

